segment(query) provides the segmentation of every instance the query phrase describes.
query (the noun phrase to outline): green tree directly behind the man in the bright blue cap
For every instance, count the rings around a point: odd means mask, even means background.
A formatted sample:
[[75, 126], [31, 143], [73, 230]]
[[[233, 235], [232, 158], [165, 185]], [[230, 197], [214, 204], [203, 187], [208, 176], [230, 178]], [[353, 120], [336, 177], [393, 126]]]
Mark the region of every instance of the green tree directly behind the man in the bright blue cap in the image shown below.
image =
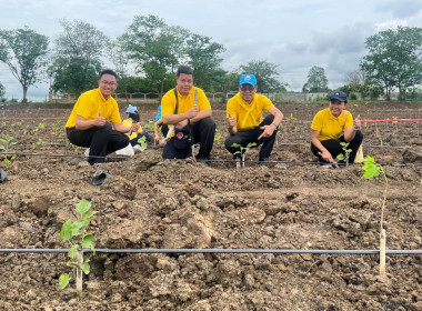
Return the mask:
[[253, 60], [239, 68], [240, 73], [253, 73], [257, 77], [258, 90], [260, 92], [285, 91], [285, 83], [278, 80], [279, 64], [267, 60]]

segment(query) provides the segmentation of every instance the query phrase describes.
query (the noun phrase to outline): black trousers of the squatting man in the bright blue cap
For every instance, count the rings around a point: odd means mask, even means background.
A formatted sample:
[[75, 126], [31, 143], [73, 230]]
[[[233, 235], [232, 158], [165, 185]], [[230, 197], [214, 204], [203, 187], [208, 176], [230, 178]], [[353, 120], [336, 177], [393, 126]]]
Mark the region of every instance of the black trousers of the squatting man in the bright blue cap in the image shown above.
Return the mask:
[[[261, 138], [260, 140], [258, 140], [258, 138], [263, 133], [261, 127], [270, 126], [273, 121], [274, 116], [269, 114], [265, 117], [265, 119], [262, 120], [262, 122], [257, 128], [247, 131], [238, 131], [235, 136], [227, 137], [224, 142], [225, 149], [229, 150], [230, 153], [234, 153], [237, 151], [240, 151], [240, 148], [233, 147], [233, 143], [238, 143], [243, 148], [248, 147], [248, 144], [251, 142], [254, 142], [258, 146], [262, 143], [262, 148], [260, 150], [260, 160], [270, 158], [272, 148], [274, 147], [278, 130], [275, 130], [272, 133], [272, 136], [268, 138]], [[241, 154], [239, 153], [234, 156], [241, 158]]]

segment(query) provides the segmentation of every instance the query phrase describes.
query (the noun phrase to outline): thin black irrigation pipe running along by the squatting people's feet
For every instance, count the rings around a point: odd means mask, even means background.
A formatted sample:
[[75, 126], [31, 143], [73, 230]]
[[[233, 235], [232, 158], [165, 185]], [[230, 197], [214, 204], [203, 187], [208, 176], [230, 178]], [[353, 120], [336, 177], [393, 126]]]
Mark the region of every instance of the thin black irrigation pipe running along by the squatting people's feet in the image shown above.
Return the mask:
[[[19, 156], [19, 157], [49, 157], [49, 158], [87, 158], [84, 154], [51, 154], [51, 153], [27, 153], [27, 152], [0, 152], [0, 156]], [[96, 159], [120, 159], [120, 160], [124, 160], [124, 159], [129, 159], [128, 157], [124, 157], [124, 156], [107, 156], [107, 157], [100, 157], [100, 156], [91, 156], [91, 158], [96, 158]], [[189, 159], [189, 158], [188, 158]], [[178, 161], [178, 160], [185, 160], [185, 159], [168, 159], [167, 161]], [[208, 160], [208, 162], [210, 163], [237, 163], [239, 162], [240, 160], [237, 160], [237, 159], [233, 159], [233, 160], [224, 160], [224, 159], [221, 159], [221, 160], [213, 160], [213, 159], [210, 159]], [[244, 163], [265, 163], [265, 164], [289, 164], [289, 165], [305, 165], [305, 164], [318, 164], [318, 165], [321, 165], [323, 163], [320, 163], [320, 162], [297, 162], [297, 161], [265, 161], [265, 162], [261, 162], [261, 161], [258, 161], [258, 160], [245, 160]], [[338, 163], [338, 165], [342, 167], [342, 165], [346, 165], [345, 163]], [[361, 165], [361, 163], [349, 163], [349, 167], [352, 167], [352, 165]], [[386, 165], [386, 164], [382, 164], [382, 165]], [[393, 163], [393, 164], [388, 164], [388, 165], [392, 165], [392, 167], [410, 167], [410, 165], [415, 165], [415, 167], [421, 167], [422, 163]]]

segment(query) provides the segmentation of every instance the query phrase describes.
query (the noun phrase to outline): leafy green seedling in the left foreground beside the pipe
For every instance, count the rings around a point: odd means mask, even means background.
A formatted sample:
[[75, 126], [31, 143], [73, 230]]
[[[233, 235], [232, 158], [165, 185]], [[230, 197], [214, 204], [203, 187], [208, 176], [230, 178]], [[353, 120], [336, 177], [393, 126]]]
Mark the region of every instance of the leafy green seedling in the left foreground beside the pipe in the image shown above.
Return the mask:
[[[77, 293], [82, 293], [82, 272], [89, 274], [90, 260], [83, 260], [83, 249], [91, 249], [96, 253], [94, 240], [96, 237], [92, 233], [86, 233], [91, 217], [97, 211], [91, 211], [91, 202], [82, 199], [77, 205], [78, 220], [68, 220], [63, 223], [60, 231], [60, 239], [70, 243], [68, 257], [70, 260], [67, 265], [72, 268], [76, 273]], [[59, 278], [59, 288], [64, 289], [68, 287], [71, 278], [68, 273], [63, 273]]]

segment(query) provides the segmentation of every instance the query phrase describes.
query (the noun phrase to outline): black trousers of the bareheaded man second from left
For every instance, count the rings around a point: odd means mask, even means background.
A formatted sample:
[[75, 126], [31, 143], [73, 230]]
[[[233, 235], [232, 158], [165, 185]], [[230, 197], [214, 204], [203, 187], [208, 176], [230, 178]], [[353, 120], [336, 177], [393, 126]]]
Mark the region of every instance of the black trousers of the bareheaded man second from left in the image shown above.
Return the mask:
[[[215, 122], [211, 118], [204, 118], [193, 124], [193, 139], [200, 143], [197, 159], [210, 159], [211, 149], [214, 143]], [[177, 149], [173, 143], [174, 137], [169, 139], [162, 150], [163, 159], [187, 159], [192, 157], [192, 148]]]

